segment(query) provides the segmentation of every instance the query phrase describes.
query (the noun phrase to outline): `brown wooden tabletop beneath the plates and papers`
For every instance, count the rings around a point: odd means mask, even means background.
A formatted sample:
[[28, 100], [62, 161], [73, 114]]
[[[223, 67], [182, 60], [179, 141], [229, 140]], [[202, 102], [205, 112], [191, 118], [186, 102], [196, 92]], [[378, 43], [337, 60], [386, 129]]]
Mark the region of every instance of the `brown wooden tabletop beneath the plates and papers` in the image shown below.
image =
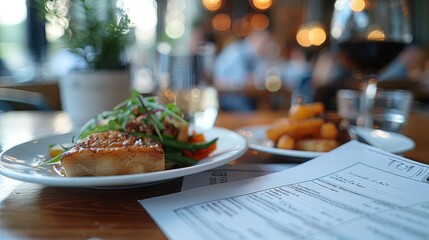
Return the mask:
[[[237, 129], [269, 124], [279, 112], [220, 113], [216, 125]], [[3, 148], [72, 129], [62, 112], [0, 116]], [[416, 141], [407, 157], [429, 163], [429, 114], [412, 113], [404, 134]], [[249, 150], [241, 163], [285, 162]], [[0, 176], [0, 239], [166, 239], [137, 200], [179, 191], [181, 179], [133, 189], [45, 187]]]

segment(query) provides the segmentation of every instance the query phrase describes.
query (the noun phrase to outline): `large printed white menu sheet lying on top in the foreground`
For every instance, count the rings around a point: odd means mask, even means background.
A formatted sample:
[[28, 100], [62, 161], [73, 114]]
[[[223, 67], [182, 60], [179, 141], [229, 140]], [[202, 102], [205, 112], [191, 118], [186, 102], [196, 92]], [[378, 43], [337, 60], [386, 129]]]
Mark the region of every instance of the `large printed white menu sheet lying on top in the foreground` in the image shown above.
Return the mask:
[[169, 239], [429, 239], [429, 166], [355, 141], [262, 177], [140, 200]]

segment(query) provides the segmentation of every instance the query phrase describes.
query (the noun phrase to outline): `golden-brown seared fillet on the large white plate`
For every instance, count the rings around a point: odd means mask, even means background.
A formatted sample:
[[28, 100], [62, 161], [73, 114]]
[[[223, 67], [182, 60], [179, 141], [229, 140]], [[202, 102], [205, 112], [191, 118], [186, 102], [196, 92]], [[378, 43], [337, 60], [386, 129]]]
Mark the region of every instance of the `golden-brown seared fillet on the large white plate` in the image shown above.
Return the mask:
[[151, 138], [119, 131], [93, 133], [61, 157], [66, 176], [109, 176], [165, 169], [164, 151]]

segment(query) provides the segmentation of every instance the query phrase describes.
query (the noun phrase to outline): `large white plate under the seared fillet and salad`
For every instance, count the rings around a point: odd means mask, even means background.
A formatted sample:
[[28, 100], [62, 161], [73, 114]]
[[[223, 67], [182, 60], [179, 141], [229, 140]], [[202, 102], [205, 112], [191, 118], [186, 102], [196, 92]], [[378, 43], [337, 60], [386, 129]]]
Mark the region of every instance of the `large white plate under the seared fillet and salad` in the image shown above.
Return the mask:
[[20, 181], [61, 187], [117, 188], [153, 184], [225, 165], [247, 150], [247, 141], [239, 134], [223, 128], [204, 132], [207, 139], [219, 137], [217, 149], [196, 165], [161, 172], [102, 177], [64, 177], [55, 165], [34, 167], [47, 158], [50, 144], [69, 143], [74, 134], [61, 134], [23, 143], [4, 151], [0, 156], [0, 173]]

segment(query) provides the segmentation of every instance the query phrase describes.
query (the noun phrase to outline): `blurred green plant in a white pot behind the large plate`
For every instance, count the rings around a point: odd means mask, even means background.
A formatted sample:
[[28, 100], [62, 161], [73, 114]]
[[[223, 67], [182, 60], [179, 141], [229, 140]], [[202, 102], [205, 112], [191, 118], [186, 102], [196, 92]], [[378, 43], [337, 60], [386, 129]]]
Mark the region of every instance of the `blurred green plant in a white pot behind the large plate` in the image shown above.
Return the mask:
[[85, 63], [84, 70], [71, 71], [59, 81], [63, 109], [80, 126], [129, 95], [127, 50], [134, 40], [133, 25], [116, 1], [42, 3], [46, 20], [63, 26], [64, 46]]

